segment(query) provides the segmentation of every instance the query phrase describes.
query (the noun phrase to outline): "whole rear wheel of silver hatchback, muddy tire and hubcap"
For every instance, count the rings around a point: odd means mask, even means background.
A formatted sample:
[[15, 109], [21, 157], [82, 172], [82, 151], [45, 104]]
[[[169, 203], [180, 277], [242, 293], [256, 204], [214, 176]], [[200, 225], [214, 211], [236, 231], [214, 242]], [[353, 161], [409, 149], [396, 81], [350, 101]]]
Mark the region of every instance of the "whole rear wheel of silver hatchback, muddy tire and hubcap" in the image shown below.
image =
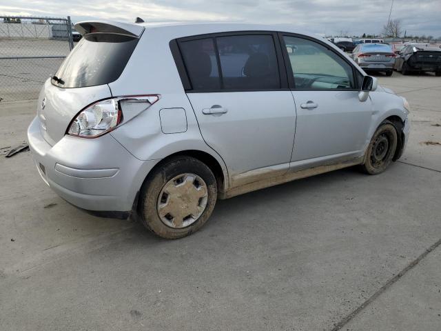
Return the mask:
[[178, 239], [207, 222], [216, 199], [212, 170], [198, 159], [179, 156], [147, 177], [140, 192], [139, 214], [148, 230], [165, 239]]

